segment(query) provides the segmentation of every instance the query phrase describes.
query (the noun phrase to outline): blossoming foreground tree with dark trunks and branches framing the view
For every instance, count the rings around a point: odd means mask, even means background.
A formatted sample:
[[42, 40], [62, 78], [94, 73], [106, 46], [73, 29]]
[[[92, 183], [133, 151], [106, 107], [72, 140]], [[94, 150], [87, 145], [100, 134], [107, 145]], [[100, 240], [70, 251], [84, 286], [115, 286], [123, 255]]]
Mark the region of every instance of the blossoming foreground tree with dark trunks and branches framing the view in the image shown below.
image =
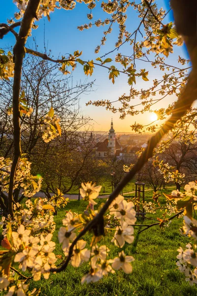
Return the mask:
[[[1, 172], [1, 197], [0, 205], [7, 209], [5, 217], [2, 218], [4, 238], [1, 242], [2, 247], [6, 250], [0, 251], [0, 289], [8, 289], [8, 296], [11, 295], [38, 295], [39, 290], [29, 291], [28, 279], [39, 280], [41, 275], [47, 279], [50, 272], [60, 272], [66, 268], [69, 262], [72, 266], [78, 267], [82, 260], [90, 262], [90, 272], [84, 275], [82, 283], [85, 281], [96, 282], [108, 273], [115, 273], [120, 268], [126, 273], [131, 273], [132, 256], [125, 255], [122, 250], [125, 243], [133, 242], [133, 226], [136, 222], [134, 204], [132, 201], [127, 202], [123, 196], [119, 195], [121, 190], [126, 186], [137, 172], [144, 166], [149, 158], [155, 153], [155, 148], [160, 140], [169, 131], [178, 130], [178, 126], [189, 123], [195, 124], [195, 120], [190, 121], [190, 117], [195, 118], [194, 111], [191, 110], [192, 104], [197, 95], [197, 29], [196, 29], [196, 1], [191, 1], [190, 5], [185, 0], [171, 0], [171, 7], [174, 13], [175, 27], [172, 23], [164, 24], [166, 13], [163, 9], [158, 11], [156, 3], [153, 0], [144, 0], [139, 4], [130, 1], [117, 0], [113, 2], [102, 2], [101, 7], [104, 12], [111, 15], [110, 19], [95, 21], [96, 26], [108, 26], [104, 32], [104, 37], [101, 39], [101, 44], [104, 45], [106, 36], [110, 34], [114, 23], [119, 24], [120, 33], [116, 43], [116, 49], [120, 48], [125, 42], [130, 42], [133, 53], [130, 57], [118, 54], [116, 62], [122, 66], [122, 70], [118, 70], [114, 65], [106, 66], [111, 63], [111, 58], [97, 58], [97, 62], [84, 61], [79, 57], [82, 52], [75, 51], [67, 58], [51, 59], [46, 54], [29, 49], [26, 47], [27, 39], [31, 34], [31, 30], [36, 29], [37, 22], [40, 18], [47, 16], [50, 20], [50, 13], [56, 8], [66, 10], [74, 9], [76, 2], [65, 0], [14, 0], [19, 12], [14, 18], [8, 21], [8, 24], [0, 24], [0, 37], [3, 38], [6, 34], [13, 34], [16, 38], [16, 43], [12, 52], [5, 53], [0, 50], [0, 77], [9, 79], [13, 76], [13, 94], [12, 104], [4, 110], [12, 116], [13, 135], [14, 135], [14, 155], [13, 160], [0, 158]], [[79, 2], [81, 2], [79, 0]], [[92, 10], [96, 6], [93, 0], [84, 0], [90, 9], [87, 15], [88, 19], [93, 18]], [[137, 9], [140, 17], [140, 23], [136, 30], [132, 33], [126, 31], [127, 9], [132, 6]], [[58, 12], [55, 12], [58, 13]], [[79, 30], [89, 29], [93, 24], [85, 24], [79, 26]], [[142, 34], [141, 26], [145, 29], [145, 40], [137, 41], [137, 35]], [[19, 27], [19, 33], [15, 31]], [[124, 39], [125, 38], [125, 39]], [[124, 40], [123, 40], [124, 39]], [[187, 75], [185, 69], [175, 68], [167, 65], [160, 55], [167, 57], [176, 44], [181, 45], [185, 42], [192, 68], [190, 74]], [[100, 45], [96, 48], [99, 52]], [[149, 48], [145, 53], [143, 48]], [[114, 50], [116, 50], [114, 49]], [[155, 81], [154, 86], [147, 92], [136, 92], [133, 89], [133, 84], [136, 83], [136, 77], [139, 76], [143, 80], [148, 80], [148, 72], [145, 69], [137, 69], [137, 59], [146, 58], [150, 51], [156, 54], [156, 60], [147, 62], [153, 66], [159, 65], [161, 69], [171, 69], [171, 74], [164, 75], [162, 81]], [[139, 111], [133, 111], [134, 106], [129, 106], [127, 102], [133, 96], [141, 95], [142, 106], [146, 105], [146, 109], [150, 109], [154, 105], [154, 100], [151, 95], [158, 90], [158, 86], [163, 83], [163, 91], [161, 94], [165, 96], [173, 92], [177, 92], [177, 101], [170, 105], [167, 110], [157, 111], [159, 116], [164, 119], [166, 115], [170, 117], [164, 125], [154, 134], [147, 143], [147, 148], [141, 153], [136, 164], [125, 175], [123, 180], [117, 185], [114, 191], [110, 194], [106, 203], [101, 204], [99, 209], [94, 211], [93, 205], [96, 204], [95, 199], [99, 195], [101, 186], [95, 186], [92, 183], [82, 183], [80, 189], [81, 196], [87, 202], [87, 208], [83, 214], [68, 212], [63, 219], [63, 226], [60, 228], [58, 238], [64, 251], [65, 259], [61, 266], [56, 266], [57, 256], [54, 253], [55, 243], [52, 241], [55, 223], [53, 213], [55, 208], [66, 206], [67, 200], [64, 199], [62, 192], [57, 189], [57, 194], [48, 199], [35, 199], [32, 202], [30, 199], [25, 204], [15, 202], [13, 189], [23, 188], [23, 195], [30, 198], [35, 192], [38, 192], [41, 187], [41, 178], [31, 174], [31, 163], [27, 158], [21, 155], [21, 120], [25, 121], [26, 116], [30, 116], [33, 112], [31, 106], [28, 106], [26, 94], [21, 89], [21, 73], [23, 60], [26, 54], [36, 55], [44, 60], [49, 60], [58, 65], [59, 70], [63, 74], [69, 74], [74, 71], [77, 64], [83, 66], [84, 74], [91, 75], [95, 66], [102, 67], [109, 71], [109, 79], [115, 82], [115, 78], [119, 74], [128, 76], [128, 83], [131, 85], [131, 93], [129, 96], [123, 95], [120, 101], [123, 108], [120, 110], [124, 115], [125, 110], [129, 110], [128, 114], [136, 114]], [[107, 55], [108, 53], [106, 53]], [[180, 63], [184, 65], [186, 60], [180, 58]], [[70, 70], [71, 69], [71, 70]], [[177, 78], [175, 72], [179, 73]], [[167, 86], [166, 86], [167, 84]], [[174, 85], [175, 84], [175, 88]], [[157, 88], [157, 89], [156, 89]], [[162, 100], [163, 98], [161, 98]], [[157, 100], [156, 100], [157, 101]], [[89, 102], [88, 104], [92, 104]], [[117, 111], [108, 101], [94, 102], [97, 106], [106, 106], [111, 111]], [[145, 109], [142, 109], [143, 112]], [[47, 114], [43, 114], [40, 121], [41, 131], [43, 132], [43, 140], [48, 143], [55, 137], [61, 136], [61, 123], [59, 118], [54, 113], [53, 107]], [[138, 131], [143, 128], [141, 125], [135, 124], [133, 130]], [[152, 131], [156, 129], [151, 128]], [[186, 129], [187, 130], [187, 129]], [[178, 133], [178, 132], [177, 132]], [[175, 135], [176, 136], [176, 135]], [[161, 170], [163, 166], [161, 166]], [[7, 195], [4, 193], [8, 193]], [[175, 200], [175, 205], [179, 211], [175, 217], [184, 212], [184, 231], [186, 234], [197, 239], [197, 222], [192, 216], [193, 207], [196, 207], [197, 201], [197, 185], [195, 182], [189, 183], [184, 188], [184, 192], [179, 190], [173, 191], [171, 195], [166, 197], [171, 201]], [[112, 218], [111, 218], [112, 217]], [[115, 228], [108, 227], [111, 224], [111, 219], [115, 221]], [[165, 221], [159, 222], [159, 224]], [[109, 224], [109, 225], [108, 225]], [[88, 248], [87, 242], [83, 239], [84, 234], [89, 232], [92, 235], [92, 241]], [[117, 257], [108, 259], [109, 248], [106, 245], [99, 245], [99, 241], [104, 235], [113, 232], [112, 243], [117, 246], [119, 252]], [[196, 260], [196, 245], [189, 244], [186, 250], [179, 250], [179, 263], [177, 264], [181, 271], [186, 274], [186, 279], [193, 283], [197, 281], [197, 263]], [[13, 263], [18, 263], [18, 269], [15, 269]], [[193, 268], [192, 266], [195, 266]], [[32, 274], [29, 278], [23, 274], [26, 270]], [[12, 275], [15, 272], [17, 276]]]

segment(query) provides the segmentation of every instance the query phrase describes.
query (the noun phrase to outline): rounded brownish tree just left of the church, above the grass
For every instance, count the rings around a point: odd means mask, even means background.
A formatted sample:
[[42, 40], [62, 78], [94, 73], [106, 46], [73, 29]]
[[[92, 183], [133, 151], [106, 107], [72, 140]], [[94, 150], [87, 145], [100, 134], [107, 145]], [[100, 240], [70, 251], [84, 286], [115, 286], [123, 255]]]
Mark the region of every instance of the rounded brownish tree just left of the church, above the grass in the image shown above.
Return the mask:
[[[91, 168], [94, 149], [95, 142], [88, 131], [63, 132], [53, 142], [37, 145], [33, 152], [33, 173], [42, 176], [42, 191], [50, 197], [50, 192], [56, 193], [57, 188], [66, 194], [78, 185], [80, 176], [86, 176], [87, 168]], [[80, 182], [85, 181], [83, 178]]]

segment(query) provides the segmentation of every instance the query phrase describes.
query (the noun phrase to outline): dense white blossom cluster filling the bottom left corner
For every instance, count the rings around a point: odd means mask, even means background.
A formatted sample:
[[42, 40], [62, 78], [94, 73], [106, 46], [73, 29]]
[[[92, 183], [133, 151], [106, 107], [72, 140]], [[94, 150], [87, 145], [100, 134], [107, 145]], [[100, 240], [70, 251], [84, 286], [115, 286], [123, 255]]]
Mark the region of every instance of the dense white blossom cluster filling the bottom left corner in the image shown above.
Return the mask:
[[[68, 199], [61, 200], [59, 191], [51, 200], [37, 198], [32, 202], [30, 199], [24, 205], [14, 206], [14, 217], [2, 217], [0, 225], [3, 227], [4, 239], [1, 246], [7, 249], [0, 256], [0, 290], [8, 287], [12, 281], [12, 263], [18, 263], [18, 267], [25, 272], [31, 271], [33, 279], [39, 280], [41, 275], [48, 279], [50, 268], [55, 267], [57, 261], [54, 254], [55, 242], [52, 241], [55, 231], [53, 212], [56, 206], [65, 206]], [[9, 286], [9, 295], [38, 295], [39, 291], [28, 291], [28, 285], [24, 280], [19, 281], [15, 276], [15, 283]], [[12, 293], [12, 294], [11, 294]]]

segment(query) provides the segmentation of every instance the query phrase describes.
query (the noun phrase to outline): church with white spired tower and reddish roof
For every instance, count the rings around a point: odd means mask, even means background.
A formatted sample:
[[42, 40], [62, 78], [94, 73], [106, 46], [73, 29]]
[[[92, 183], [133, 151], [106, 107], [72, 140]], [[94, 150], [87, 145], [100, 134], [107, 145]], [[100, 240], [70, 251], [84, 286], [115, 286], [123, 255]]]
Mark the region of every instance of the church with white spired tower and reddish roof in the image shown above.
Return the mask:
[[113, 128], [113, 121], [111, 119], [111, 128], [108, 133], [108, 139], [103, 142], [99, 142], [96, 147], [96, 157], [104, 158], [107, 156], [115, 156], [116, 151], [120, 149], [121, 146], [116, 139], [116, 133]]

